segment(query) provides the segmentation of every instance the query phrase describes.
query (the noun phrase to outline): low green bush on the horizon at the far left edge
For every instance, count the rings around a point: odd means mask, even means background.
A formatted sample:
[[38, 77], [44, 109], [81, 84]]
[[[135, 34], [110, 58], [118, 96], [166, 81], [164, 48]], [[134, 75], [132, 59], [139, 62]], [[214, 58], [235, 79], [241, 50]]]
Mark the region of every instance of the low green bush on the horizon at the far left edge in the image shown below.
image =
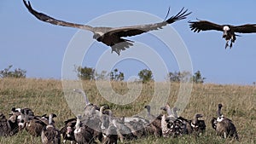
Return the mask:
[[13, 65], [8, 66], [0, 71], [0, 78], [26, 78], [26, 70], [15, 68], [11, 71]]

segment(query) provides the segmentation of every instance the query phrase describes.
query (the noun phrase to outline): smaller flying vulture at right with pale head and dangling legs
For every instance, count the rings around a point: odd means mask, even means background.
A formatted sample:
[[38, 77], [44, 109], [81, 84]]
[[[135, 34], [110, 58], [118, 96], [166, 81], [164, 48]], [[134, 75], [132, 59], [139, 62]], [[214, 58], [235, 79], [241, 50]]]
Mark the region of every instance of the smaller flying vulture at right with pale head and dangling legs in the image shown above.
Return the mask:
[[210, 31], [210, 30], [224, 32], [223, 38], [226, 40], [225, 49], [228, 46], [230, 46], [230, 49], [231, 49], [232, 43], [235, 43], [236, 36], [239, 36], [239, 35], [236, 35], [235, 32], [238, 32], [238, 33], [256, 32], [256, 24], [246, 24], [241, 26], [218, 25], [207, 20], [189, 21], [189, 23], [190, 23], [189, 26], [191, 28], [191, 31], [194, 31], [194, 32]]

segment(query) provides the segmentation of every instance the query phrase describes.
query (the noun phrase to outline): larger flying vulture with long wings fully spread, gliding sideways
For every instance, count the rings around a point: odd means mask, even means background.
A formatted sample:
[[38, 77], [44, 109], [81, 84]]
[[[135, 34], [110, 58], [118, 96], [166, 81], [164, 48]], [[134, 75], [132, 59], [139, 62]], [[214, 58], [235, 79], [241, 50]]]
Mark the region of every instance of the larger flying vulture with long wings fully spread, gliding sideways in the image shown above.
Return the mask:
[[38, 20], [49, 22], [50, 24], [53, 25], [75, 27], [93, 32], [94, 39], [96, 39], [98, 42], [102, 42], [110, 46], [112, 48], [112, 52], [114, 51], [118, 55], [120, 55], [120, 51], [128, 49], [134, 43], [133, 41], [125, 39], [123, 37], [136, 36], [142, 34], [143, 32], [161, 29], [163, 26], [166, 26], [167, 24], [172, 24], [177, 20], [186, 19], [186, 16], [191, 14], [191, 12], [187, 13], [188, 9], [181, 9], [180, 12], [172, 16], [170, 19], [164, 20], [159, 23], [124, 27], [93, 27], [88, 25], [66, 22], [63, 20], [56, 20], [50, 17], [49, 15], [39, 13], [38, 11], [32, 9], [32, 6], [29, 1], [28, 3], [26, 3], [26, 0], [23, 0], [23, 2], [26, 5], [26, 8], [29, 10], [29, 12], [36, 16]]

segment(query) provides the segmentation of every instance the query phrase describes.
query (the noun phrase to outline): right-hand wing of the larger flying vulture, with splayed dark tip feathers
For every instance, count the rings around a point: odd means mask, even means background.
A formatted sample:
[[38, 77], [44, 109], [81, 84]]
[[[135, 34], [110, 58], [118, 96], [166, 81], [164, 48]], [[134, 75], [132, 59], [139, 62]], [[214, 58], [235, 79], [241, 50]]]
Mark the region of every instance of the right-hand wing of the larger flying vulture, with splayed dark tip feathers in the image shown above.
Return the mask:
[[[183, 8], [184, 9], [184, 8]], [[142, 34], [143, 32], [149, 32], [153, 30], [159, 30], [163, 26], [166, 26], [168, 24], [172, 24], [173, 22], [177, 20], [183, 20], [186, 19], [186, 16], [191, 14], [192, 12], [188, 12], [188, 9], [183, 10], [181, 9], [176, 15], [172, 16], [168, 20], [154, 23], [154, 24], [148, 24], [148, 25], [137, 25], [137, 26], [124, 26], [124, 27], [117, 27], [111, 29], [109, 32], [107, 32], [109, 35], [117, 35], [119, 37], [131, 37], [138, 34]], [[107, 34], [106, 33], [106, 34]]]

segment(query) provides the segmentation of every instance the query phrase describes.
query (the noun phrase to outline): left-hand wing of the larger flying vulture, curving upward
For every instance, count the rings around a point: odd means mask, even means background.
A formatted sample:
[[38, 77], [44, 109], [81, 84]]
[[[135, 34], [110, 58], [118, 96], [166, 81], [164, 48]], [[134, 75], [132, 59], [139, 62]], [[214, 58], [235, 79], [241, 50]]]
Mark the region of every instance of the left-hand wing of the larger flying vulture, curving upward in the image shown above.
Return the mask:
[[33, 14], [36, 18], [38, 18], [38, 20], [42, 20], [44, 22], [48, 22], [48, 23], [53, 24], [53, 25], [76, 27], [76, 28], [79, 28], [79, 29], [85, 29], [85, 30], [92, 31], [91, 26], [75, 24], [75, 23], [66, 22], [66, 21], [62, 21], [62, 20], [56, 20], [56, 19], [50, 17], [49, 15], [46, 15], [46, 14], [43, 14], [43, 13], [38, 13], [38, 11], [32, 9], [32, 6], [31, 6], [29, 1], [28, 1], [28, 3], [26, 3], [26, 0], [23, 0], [23, 3], [25, 4], [26, 9], [28, 9], [28, 11], [31, 14]]

